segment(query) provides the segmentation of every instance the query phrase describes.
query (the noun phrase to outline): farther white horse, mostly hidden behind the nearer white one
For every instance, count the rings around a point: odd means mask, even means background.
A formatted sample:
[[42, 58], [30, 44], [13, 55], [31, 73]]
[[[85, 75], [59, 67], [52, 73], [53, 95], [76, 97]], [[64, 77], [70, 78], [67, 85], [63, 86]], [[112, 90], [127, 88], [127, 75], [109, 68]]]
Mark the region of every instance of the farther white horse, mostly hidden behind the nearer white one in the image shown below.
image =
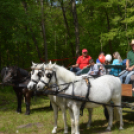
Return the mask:
[[[40, 73], [43, 73], [42, 70], [42, 65], [36, 64], [36, 63], [32, 63], [32, 69], [36, 68], [39, 70], [34, 70], [33, 72], [31, 72], [31, 81], [28, 84], [28, 89], [32, 90], [35, 88], [36, 84], [38, 83], [39, 79], [40, 79]], [[38, 66], [37, 66], [38, 65]], [[46, 67], [46, 65], [43, 65], [44, 69]], [[68, 125], [67, 125], [67, 119], [66, 119], [66, 101], [64, 98], [61, 97], [57, 97], [57, 96], [52, 96], [52, 95], [48, 95], [48, 97], [50, 98], [51, 104], [52, 104], [52, 108], [54, 110], [54, 128], [52, 130], [52, 133], [56, 133], [57, 132], [57, 119], [58, 119], [58, 107], [60, 107], [61, 111], [62, 111], [62, 116], [63, 116], [63, 121], [64, 121], [64, 133], [68, 133]], [[71, 111], [69, 111], [71, 113]], [[88, 109], [89, 112], [89, 121], [87, 123], [87, 127], [90, 127], [91, 124], [91, 114], [92, 114], [92, 109]], [[73, 130], [72, 130], [72, 134], [73, 134]]]

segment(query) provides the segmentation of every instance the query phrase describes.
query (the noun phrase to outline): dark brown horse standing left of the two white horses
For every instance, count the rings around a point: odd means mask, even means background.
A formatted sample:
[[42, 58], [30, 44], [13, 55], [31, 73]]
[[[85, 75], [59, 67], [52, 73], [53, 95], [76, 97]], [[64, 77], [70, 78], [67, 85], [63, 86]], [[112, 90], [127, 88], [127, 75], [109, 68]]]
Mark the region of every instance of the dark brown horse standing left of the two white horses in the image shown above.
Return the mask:
[[13, 90], [17, 96], [17, 112], [21, 113], [22, 97], [25, 97], [26, 115], [30, 114], [30, 102], [33, 96], [33, 91], [27, 89], [27, 84], [30, 81], [30, 74], [17, 66], [5, 67], [1, 71], [2, 82], [4, 84], [12, 84]]

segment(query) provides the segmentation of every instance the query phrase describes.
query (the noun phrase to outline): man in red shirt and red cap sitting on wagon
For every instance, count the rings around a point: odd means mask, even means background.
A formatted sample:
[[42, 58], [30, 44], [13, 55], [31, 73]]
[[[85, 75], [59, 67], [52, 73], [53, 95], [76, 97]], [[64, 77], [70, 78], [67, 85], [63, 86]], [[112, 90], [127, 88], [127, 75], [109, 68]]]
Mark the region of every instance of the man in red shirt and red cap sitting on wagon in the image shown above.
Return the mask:
[[90, 66], [89, 64], [90, 59], [92, 59], [92, 57], [88, 55], [87, 49], [83, 49], [82, 55], [78, 57], [76, 64], [72, 65], [70, 71], [75, 72], [76, 75], [80, 75], [82, 72], [82, 69]]

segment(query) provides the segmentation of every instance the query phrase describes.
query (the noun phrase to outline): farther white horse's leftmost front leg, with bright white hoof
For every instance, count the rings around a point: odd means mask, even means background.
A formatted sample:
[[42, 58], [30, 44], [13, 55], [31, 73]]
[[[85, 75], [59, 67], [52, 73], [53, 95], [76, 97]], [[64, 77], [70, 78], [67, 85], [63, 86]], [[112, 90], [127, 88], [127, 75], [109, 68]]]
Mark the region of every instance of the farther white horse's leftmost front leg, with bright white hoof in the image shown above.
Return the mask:
[[55, 134], [57, 132], [58, 107], [53, 102], [51, 102], [51, 105], [54, 111], [54, 128], [52, 134]]

